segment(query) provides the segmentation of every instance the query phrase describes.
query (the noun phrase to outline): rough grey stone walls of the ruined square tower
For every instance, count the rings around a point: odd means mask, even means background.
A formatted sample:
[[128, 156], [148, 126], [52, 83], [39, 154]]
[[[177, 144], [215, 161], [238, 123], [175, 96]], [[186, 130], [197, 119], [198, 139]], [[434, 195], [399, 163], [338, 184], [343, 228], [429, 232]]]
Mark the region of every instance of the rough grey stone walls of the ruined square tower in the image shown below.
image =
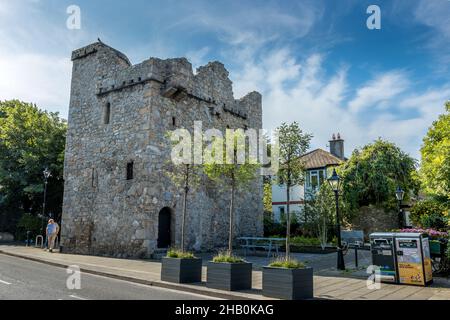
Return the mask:
[[[262, 128], [261, 95], [234, 99], [220, 62], [194, 74], [185, 58], [132, 65], [97, 42], [72, 53], [64, 167], [64, 252], [149, 257], [180, 244], [182, 190], [167, 177], [176, 128]], [[227, 188], [207, 180], [189, 193], [186, 245], [209, 250], [228, 238]], [[262, 180], [236, 195], [235, 235], [263, 233]], [[164, 241], [163, 241], [164, 240]]]

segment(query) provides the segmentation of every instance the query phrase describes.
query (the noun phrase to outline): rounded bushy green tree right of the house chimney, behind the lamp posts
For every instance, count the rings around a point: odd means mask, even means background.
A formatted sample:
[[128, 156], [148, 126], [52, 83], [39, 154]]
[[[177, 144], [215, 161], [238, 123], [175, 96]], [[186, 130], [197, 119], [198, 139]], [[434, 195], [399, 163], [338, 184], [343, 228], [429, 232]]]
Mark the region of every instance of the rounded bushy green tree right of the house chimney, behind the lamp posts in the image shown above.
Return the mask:
[[338, 170], [344, 201], [353, 213], [370, 204], [393, 210], [398, 186], [405, 191], [406, 201], [411, 192], [418, 192], [416, 166], [416, 160], [382, 139], [357, 149]]

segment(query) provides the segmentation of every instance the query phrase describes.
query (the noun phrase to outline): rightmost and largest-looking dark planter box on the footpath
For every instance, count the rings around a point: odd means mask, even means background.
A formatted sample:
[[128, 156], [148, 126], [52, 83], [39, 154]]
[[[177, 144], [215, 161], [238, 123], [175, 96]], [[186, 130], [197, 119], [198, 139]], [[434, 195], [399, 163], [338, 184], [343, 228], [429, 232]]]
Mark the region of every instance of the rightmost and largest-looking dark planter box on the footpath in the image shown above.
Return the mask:
[[264, 267], [263, 296], [286, 300], [314, 298], [313, 269]]

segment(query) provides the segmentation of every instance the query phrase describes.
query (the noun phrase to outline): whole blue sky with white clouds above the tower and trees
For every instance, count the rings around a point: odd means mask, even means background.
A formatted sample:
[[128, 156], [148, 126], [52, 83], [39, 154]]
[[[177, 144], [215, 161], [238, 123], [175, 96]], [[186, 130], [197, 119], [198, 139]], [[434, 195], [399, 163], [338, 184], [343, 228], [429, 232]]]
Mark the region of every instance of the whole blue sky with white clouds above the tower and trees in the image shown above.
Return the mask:
[[[381, 30], [366, 27], [372, 4]], [[266, 129], [296, 120], [324, 149], [340, 132], [347, 155], [382, 137], [419, 158], [450, 99], [449, 0], [0, 0], [0, 99], [67, 117], [70, 53], [97, 37], [133, 63], [219, 60], [236, 98], [263, 94]]]

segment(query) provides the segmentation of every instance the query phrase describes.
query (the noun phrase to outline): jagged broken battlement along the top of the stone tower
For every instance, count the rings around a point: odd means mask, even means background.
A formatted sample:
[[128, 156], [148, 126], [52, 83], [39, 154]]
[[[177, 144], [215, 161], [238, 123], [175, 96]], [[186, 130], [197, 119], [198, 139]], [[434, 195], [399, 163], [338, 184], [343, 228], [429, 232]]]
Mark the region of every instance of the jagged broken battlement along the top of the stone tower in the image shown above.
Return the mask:
[[161, 95], [165, 98], [176, 101], [195, 99], [210, 104], [214, 110], [220, 109], [219, 112], [227, 112], [242, 119], [248, 117], [249, 110], [240, 104], [240, 99], [234, 99], [229, 72], [221, 62], [209, 62], [199, 67], [196, 74], [186, 58], [162, 60], [152, 57], [132, 65], [125, 54], [102, 42], [75, 50], [72, 60], [76, 63], [95, 54], [103, 57], [99, 58], [95, 70], [97, 96], [105, 97], [113, 92], [132, 90], [133, 87], [156, 82], [161, 84]]

